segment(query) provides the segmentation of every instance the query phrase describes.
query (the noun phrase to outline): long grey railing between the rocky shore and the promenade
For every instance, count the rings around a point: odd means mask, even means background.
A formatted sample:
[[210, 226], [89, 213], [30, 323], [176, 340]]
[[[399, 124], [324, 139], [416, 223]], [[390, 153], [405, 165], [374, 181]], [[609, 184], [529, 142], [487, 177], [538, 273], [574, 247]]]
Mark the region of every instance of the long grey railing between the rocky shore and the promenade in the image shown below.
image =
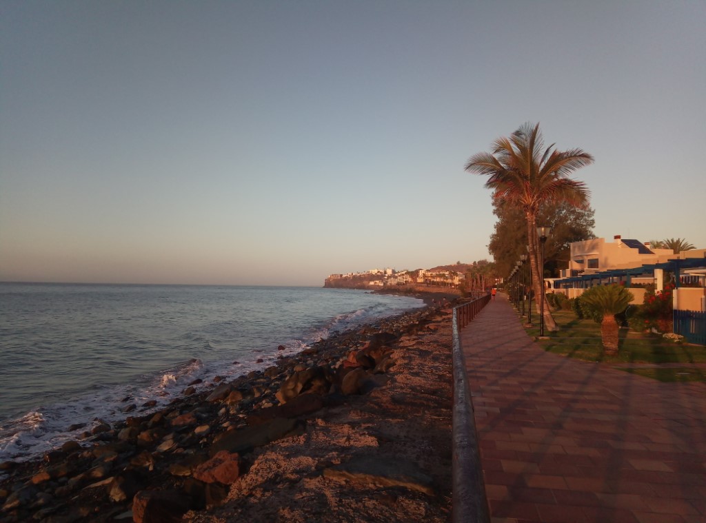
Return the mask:
[[453, 308], [453, 523], [490, 522], [460, 337], [462, 327], [468, 325], [489, 301], [487, 295]]

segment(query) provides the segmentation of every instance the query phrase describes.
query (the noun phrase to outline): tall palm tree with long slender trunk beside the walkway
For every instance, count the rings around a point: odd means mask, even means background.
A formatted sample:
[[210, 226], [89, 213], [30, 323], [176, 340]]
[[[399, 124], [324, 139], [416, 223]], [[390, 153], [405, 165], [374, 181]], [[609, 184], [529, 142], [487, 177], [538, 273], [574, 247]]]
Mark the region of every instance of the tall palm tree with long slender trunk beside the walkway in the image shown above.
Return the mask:
[[[535, 296], [544, 296], [544, 275], [540, 271], [537, 254], [537, 214], [550, 203], [566, 202], [587, 209], [590, 191], [582, 181], [570, 179], [569, 174], [593, 162], [593, 157], [580, 149], [558, 151], [554, 144], [544, 149], [539, 124], [524, 124], [509, 138], [493, 142], [492, 152], [479, 152], [466, 162], [465, 170], [486, 174], [486, 188], [493, 198], [513, 205], [525, 212], [527, 238], [530, 244], [530, 270]], [[537, 312], [541, 310], [537, 300]], [[544, 325], [557, 330], [556, 322], [544, 307]]]

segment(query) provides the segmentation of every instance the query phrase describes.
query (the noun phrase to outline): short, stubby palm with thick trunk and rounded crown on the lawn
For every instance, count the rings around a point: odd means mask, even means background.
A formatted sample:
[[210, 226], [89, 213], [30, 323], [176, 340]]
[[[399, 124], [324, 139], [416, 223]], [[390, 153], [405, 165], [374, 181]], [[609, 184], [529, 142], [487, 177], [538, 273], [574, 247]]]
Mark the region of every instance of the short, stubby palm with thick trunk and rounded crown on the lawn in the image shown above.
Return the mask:
[[625, 311], [633, 301], [633, 294], [618, 284], [598, 285], [581, 294], [581, 305], [602, 315], [601, 342], [608, 355], [618, 354], [618, 322], [615, 315]]

